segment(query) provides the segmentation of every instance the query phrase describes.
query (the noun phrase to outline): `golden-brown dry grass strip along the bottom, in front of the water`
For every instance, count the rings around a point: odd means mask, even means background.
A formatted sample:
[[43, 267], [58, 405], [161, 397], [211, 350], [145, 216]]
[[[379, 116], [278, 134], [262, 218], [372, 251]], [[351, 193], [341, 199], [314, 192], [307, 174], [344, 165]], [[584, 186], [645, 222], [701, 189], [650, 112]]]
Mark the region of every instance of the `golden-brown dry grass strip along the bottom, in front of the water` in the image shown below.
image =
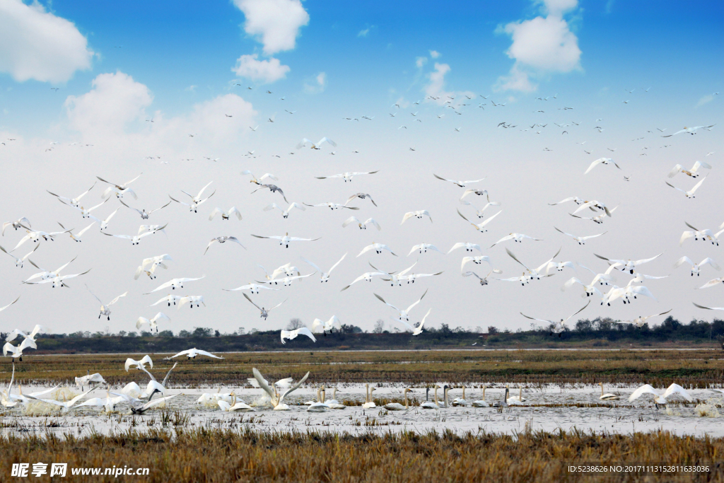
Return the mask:
[[[62, 481], [85, 467], [148, 467], [144, 482], [722, 482], [723, 438], [583, 432], [508, 435], [261, 433], [194, 429], [144, 434], [0, 437], [0, 474], [16, 462], [68, 463]], [[571, 463], [710, 464], [708, 473], [569, 474]], [[129, 478], [129, 477], [126, 477]], [[35, 480], [35, 478], [32, 478]], [[37, 479], [38, 481], [48, 481]], [[113, 476], [94, 482], [119, 481]]]

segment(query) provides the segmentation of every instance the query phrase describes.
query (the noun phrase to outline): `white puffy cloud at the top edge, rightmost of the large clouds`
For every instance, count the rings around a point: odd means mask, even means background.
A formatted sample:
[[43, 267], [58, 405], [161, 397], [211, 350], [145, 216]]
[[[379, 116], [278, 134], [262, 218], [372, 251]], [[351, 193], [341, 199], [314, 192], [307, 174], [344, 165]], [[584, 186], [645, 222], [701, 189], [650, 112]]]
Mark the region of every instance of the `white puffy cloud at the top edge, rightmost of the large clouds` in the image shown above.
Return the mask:
[[534, 91], [537, 86], [531, 77], [581, 68], [578, 38], [563, 19], [563, 14], [576, 6], [577, 0], [545, 0], [542, 10], [547, 17], [511, 22], [497, 29], [513, 39], [506, 54], [515, 59], [510, 74], [498, 79], [498, 89]]

